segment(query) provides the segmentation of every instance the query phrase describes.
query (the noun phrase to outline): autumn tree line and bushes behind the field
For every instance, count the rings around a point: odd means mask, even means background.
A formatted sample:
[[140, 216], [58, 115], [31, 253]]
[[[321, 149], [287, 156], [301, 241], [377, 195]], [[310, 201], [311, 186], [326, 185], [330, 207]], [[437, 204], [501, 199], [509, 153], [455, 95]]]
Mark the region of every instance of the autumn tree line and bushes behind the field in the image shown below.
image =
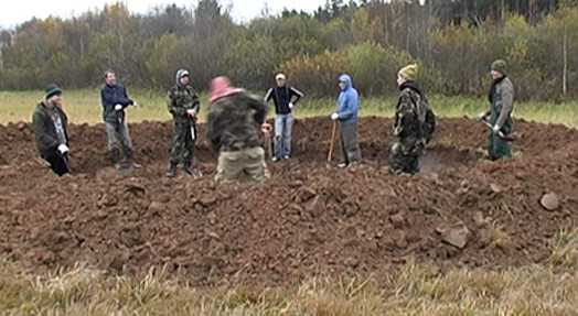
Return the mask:
[[330, 0], [313, 13], [234, 22], [217, 0], [133, 14], [122, 3], [0, 30], [0, 89], [96, 87], [114, 69], [129, 86], [167, 89], [185, 67], [197, 90], [226, 75], [260, 91], [283, 72], [308, 95], [335, 94], [349, 73], [362, 95], [395, 92], [418, 63], [428, 94], [488, 92], [493, 59], [509, 63], [520, 99], [578, 96], [578, 0]]

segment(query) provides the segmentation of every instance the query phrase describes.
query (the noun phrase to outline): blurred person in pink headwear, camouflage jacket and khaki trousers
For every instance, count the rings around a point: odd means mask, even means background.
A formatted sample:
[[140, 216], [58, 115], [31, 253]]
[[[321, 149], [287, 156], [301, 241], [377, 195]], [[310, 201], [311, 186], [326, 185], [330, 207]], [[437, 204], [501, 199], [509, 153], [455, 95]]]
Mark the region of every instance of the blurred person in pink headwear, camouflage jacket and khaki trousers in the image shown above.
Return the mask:
[[243, 89], [231, 86], [228, 78], [211, 81], [206, 139], [218, 151], [215, 181], [231, 184], [240, 176], [260, 182], [269, 177], [259, 128], [270, 131], [265, 118], [265, 102]]

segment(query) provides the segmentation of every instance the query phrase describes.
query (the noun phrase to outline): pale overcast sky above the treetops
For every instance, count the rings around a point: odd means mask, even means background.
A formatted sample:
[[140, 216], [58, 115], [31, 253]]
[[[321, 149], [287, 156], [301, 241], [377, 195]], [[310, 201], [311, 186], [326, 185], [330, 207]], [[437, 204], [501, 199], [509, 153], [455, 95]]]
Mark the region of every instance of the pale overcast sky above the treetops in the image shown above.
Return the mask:
[[[101, 11], [107, 3], [121, 2], [132, 13], [147, 13], [152, 8], [171, 3], [193, 9], [199, 3], [199, 0], [17, 0], [9, 2], [9, 4], [4, 3], [2, 10], [0, 10], [0, 26], [2, 28], [12, 28], [32, 18], [46, 19], [52, 15], [67, 19], [78, 17], [86, 11]], [[324, 6], [327, 0], [218, 0], [218, 2], [222, 4], [222, 8], [232, 6], [231, 13], [233, 19], [236, 22], [245, 22], [260, 15], [266, 7], [265, 3], [267, 3], [270, 14], [276, 15], [285, 8], [312, 13], [320, 6]]]

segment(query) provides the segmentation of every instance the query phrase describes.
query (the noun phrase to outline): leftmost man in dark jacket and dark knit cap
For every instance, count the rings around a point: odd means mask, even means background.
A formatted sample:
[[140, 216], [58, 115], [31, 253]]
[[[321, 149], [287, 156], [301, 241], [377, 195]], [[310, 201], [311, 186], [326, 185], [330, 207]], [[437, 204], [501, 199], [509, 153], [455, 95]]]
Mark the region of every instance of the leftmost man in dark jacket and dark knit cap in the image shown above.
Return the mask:
[[32, 116], [34, 142], [42, 159], [57, 174], [71, 173], [68, 164], [68, 118], [62, 110], [62, 90], [51, 84], [44, 90], [44, 100], [36, 105]]

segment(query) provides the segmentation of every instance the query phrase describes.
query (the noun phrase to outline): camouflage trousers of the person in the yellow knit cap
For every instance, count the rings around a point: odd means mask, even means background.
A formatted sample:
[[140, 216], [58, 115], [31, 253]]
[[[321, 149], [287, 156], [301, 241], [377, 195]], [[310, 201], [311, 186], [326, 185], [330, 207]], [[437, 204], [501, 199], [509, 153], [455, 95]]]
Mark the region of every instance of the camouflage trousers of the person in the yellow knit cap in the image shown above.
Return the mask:
[[398, 138], [394, 138], [389, 149], [389, 172], [394, 174], [419, 173], [419, 157], [421, 153], [422, 150], [418, 143], [411, 140], [402, 141]]

